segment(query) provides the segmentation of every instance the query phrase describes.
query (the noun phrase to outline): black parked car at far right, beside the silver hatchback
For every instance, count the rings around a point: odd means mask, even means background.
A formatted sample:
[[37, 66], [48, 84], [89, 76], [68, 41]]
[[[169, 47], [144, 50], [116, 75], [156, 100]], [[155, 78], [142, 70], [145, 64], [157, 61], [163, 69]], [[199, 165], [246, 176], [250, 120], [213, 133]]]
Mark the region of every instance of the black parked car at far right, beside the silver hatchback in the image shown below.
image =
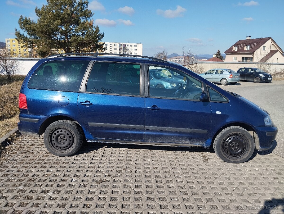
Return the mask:
[[270, 74], [258, 68], [240, 68], [237, 70], [237, 73], [240, 74], [241, 80], [254, 81], [255, 83], [269, 83], [272, 81], [272, 76]]

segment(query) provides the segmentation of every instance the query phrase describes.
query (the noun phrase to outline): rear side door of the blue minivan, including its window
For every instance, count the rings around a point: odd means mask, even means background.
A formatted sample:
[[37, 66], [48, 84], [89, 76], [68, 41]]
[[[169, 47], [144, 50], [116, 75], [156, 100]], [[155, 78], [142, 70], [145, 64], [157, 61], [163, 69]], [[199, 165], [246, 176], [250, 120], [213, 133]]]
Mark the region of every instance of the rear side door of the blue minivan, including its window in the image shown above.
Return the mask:
[[143, 141], [145, 98], [139, 63], [96, 61], [83, 84], [78, 108], [95, 140]]

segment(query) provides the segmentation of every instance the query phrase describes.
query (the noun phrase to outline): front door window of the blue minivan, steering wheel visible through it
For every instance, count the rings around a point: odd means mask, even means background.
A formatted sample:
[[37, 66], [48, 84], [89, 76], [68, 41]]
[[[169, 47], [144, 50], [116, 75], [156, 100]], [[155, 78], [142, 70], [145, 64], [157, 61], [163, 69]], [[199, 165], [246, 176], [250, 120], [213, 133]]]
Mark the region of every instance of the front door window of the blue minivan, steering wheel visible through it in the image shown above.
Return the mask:
[[[176, 79], [165, 75], [162, 70], [177, 73]], [[179, 98], [199, 100], [202, 93], [201, 81], [173, 68], [149, 66], [150, 97]]]

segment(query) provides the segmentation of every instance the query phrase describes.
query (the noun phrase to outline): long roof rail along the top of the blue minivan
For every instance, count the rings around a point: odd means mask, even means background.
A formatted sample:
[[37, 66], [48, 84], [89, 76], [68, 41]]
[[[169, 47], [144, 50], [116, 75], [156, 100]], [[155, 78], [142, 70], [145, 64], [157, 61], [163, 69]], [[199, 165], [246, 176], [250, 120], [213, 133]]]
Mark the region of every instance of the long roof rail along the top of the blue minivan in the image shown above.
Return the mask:
[[50, 56], [45, 57], [45, 58], [56, 58], [56, 57], [72, 56], [72, 55], [89, 55], [89, 56], [91, 56], [91, 57], [97, 57], [98, 55], [131, 56], [131, 57], [139, 57], [139, 58], [152, 59], [153, 61], [158, 61], [158, 62], [166, 62], [165, 60], [157, 59], [157, 58], [150, 57], [150, 56], [132, 55], [132, 54], [107, 54], [107, 53], [65, 53], [65, 54], [50, 55]]

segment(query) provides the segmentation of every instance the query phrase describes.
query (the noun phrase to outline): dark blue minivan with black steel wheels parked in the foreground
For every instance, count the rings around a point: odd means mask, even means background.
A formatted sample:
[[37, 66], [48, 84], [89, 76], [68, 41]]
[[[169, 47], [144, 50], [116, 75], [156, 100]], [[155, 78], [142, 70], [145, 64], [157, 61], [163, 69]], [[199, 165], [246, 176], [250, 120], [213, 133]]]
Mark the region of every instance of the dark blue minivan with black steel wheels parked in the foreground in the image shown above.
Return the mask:
[[[173, 71], [185, 84], [151, 87], [155, 69]], [[268, 112], [249, 100], [176, 63], [137, 55], [41, 59], [22, 84], [19, 108], [20, 133], [43, 136], [57, 156], [74, 155], [86, 140], [212, 145], [223, 161], [242, 163], [254, 149], [270, 149], [277, 134]]]

